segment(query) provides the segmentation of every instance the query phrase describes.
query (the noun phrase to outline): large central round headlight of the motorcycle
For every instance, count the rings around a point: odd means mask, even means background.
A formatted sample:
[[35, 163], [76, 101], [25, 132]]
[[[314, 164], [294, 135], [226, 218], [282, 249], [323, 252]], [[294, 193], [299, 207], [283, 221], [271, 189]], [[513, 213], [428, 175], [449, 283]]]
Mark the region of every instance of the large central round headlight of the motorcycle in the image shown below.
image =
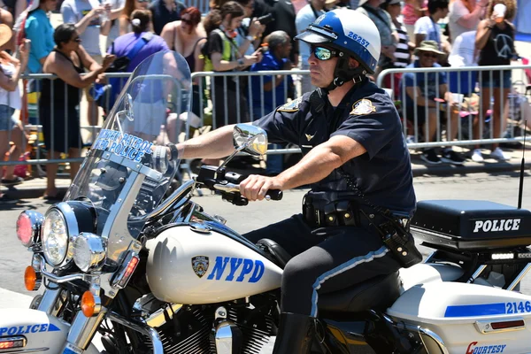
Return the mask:
[[46, 213], [42, 227], [42, 250], [51, 266], [59, 266], [68, 251], [68, 231], [63, 214], [52, 208]]

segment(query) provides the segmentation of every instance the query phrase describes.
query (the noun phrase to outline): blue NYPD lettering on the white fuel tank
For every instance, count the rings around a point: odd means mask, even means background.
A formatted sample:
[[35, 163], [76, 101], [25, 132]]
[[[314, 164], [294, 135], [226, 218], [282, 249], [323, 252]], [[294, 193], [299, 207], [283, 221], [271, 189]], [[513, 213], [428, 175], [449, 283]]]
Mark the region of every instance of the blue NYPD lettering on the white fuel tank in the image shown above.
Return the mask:
[[212, 272], [206, 278], [209, 281], [258, 282], [266, 267], [260, 260], [234, 257], [216, 257]]

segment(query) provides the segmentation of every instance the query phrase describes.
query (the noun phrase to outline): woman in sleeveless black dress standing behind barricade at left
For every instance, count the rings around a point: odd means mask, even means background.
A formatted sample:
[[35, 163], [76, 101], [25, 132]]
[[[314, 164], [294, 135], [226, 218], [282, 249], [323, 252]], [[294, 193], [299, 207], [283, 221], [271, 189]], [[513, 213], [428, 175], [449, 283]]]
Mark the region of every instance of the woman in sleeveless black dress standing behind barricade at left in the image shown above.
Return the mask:
[[[69, 158], [81, 156], [81, 127], [79, 109], [81, 89], [87, 89], [96, 81], [100, 73], [112, 64], [113, 55], [103, 59], [99, 65], [81, 46], [81, 36], [72, 23], [59, 25], [53, 39], [57, 46], [42, 65], [43, 73], [53, 73], [55, 80], [43, 79], [39, 97], [39, 119], [42, 123], [44, 144], [48, 158], [59, 158], [60, 153]], [[85, 69], [88, 73], [85, 73]], [[70, 164], [70, 176], [77, 173], [79, 163]], [[46, 165], [47, 185], [44, 198], [50, 201], [61, 199], [58, 196], [55, 179], [57, 164]]]

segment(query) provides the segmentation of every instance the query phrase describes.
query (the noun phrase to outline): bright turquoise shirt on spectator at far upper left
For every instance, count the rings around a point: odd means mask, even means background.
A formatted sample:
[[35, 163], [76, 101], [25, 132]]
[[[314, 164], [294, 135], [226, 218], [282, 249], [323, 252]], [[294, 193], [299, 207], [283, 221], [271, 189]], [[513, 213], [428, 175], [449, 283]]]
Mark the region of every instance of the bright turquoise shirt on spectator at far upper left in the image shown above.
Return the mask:
[[31, 40], [29, 50], [29, 60], [27, 67], [30, 73], [42, 73], [42, 65], [39, 59], [50, 54], [55, 46], [53, 42], [53, 27], [46, 12], [37, 9], [27, 15], [26, 26], [24, 27], [26, 38]]

